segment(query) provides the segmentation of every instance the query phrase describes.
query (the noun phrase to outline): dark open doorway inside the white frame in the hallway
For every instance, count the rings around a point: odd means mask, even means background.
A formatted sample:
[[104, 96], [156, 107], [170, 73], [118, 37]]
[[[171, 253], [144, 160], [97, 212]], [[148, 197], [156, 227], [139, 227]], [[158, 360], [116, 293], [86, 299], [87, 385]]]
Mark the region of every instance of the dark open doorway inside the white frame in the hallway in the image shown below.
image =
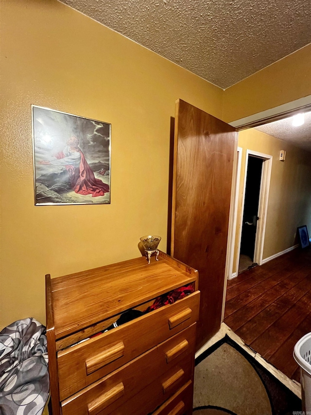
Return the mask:
[[263, 159], [248, 156], [239, 273], [254, 265]]

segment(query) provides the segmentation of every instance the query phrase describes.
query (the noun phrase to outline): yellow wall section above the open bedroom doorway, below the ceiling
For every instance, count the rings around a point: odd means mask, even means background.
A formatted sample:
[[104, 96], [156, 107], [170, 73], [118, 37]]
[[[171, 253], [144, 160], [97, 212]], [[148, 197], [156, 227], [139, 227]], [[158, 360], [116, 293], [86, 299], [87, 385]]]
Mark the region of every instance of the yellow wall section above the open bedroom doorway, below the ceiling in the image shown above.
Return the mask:
[[311, 44], [224, 91], [223, 120], [230, 123], [311, 95]]

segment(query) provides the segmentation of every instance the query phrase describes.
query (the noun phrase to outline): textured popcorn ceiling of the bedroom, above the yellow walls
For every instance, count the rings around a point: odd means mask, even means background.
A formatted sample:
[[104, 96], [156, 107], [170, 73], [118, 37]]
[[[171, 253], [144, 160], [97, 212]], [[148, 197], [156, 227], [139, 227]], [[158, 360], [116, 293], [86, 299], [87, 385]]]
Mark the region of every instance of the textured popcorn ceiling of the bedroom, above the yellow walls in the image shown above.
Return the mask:
[[310, 0], [61, 0], [227, 88], [311, 43]]

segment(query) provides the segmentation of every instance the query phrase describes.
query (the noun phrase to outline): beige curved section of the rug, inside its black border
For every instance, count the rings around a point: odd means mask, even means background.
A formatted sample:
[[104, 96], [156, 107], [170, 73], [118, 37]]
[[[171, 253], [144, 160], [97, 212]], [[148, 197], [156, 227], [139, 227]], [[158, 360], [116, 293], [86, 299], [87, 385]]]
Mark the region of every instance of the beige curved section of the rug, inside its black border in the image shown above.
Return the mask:
[[[257, 372], [227, 343], [195, 367], [193, 407], [208, 405], [239, 415], [272, 415], [269, 397]], [[196, 410], [194, 414], [230, 412], [208, 408]]]

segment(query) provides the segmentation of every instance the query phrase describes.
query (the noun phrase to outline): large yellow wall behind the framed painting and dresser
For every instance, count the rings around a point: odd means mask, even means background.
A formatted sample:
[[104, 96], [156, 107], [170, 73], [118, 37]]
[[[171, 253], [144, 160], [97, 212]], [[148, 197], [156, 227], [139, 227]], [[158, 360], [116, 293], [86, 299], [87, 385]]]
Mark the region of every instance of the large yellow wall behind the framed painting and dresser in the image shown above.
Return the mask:
[[[1, 1], [0, 327], [45, 321], [44, 275], [166, 250], [175, 99], [221, 117], [223, 90], [56, 1]], [[111, 204], [34, 206], [31, 104], [112, 125]], [[152, 174], [150, 174], [152, 169]]]

